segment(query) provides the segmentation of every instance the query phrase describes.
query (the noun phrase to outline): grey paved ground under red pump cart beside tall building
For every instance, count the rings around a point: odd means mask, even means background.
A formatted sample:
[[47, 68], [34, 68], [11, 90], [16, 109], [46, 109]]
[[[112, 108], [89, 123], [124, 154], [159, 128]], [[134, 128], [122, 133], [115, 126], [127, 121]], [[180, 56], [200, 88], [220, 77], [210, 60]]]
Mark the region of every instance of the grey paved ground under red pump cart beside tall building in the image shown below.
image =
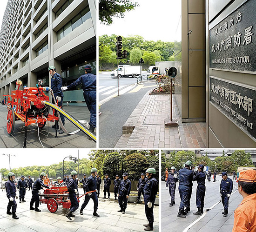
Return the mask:
[[[63, 109], [70, 113], [78, 120], [90, 120], [90, 112], [87, 106], [64, 106]], [[52, 110], [50, 110], [52, 113]], [[22, 148], [25, 136], [25, 123], [15, 121], [13, 134], [10, 136], [7, 133], [7, 106], [0, 105], [0, 147], [1, 148]], [[95, 148], [96, 143], [88, 139], [88, 136], [83, 132], [78, 132], [74, 135], [66, 133], [59, 134], [55, 138], [55, 129], [52, 128], [54, 122], [49, 122], [49, 126], [40, 129], [40, 139], [46, 148]], [[69, 120], [65, 119], [65, 128], [69, 133], [76, 131]], [[96, 131], [96, 130], [95, 130]], [[49, 134], [48, 134], [49, 132]], [[48, 134], [48, 136], [47, 136]], [[42, 148], [38, 138], [38, 128], [36, 124], [27, 127], [27, 148]]]

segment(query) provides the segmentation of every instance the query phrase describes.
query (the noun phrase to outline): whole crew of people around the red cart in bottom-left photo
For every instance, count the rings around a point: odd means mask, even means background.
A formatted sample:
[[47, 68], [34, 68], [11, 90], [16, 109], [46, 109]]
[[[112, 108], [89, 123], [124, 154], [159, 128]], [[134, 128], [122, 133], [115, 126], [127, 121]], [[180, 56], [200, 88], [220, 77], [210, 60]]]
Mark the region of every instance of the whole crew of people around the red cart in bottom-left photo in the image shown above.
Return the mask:
[[[144, 203], [145, 203], [145, 214], [148, 219], [148, 224], [144, 224], [145, 231], [152, 231], [154, 229], [153, 223], [154, 223], [154, 203], [155, 198], [158, 190], [158, 181], [155, 179], [155, 168], [148, 168], [145, 174], [141, 173], [141, 179], [139, 179], [137, 190], [138, 190], [138, 196], [137, 201], [135, 203], [138, 203], [141, 194], [143, 195]], [[77, 179], [78, 173], [74, 170], [71, 172], [71, 178], [69, 176], [64, 176], [63, 179], [61, 177], [57, 178], [57, 181], [54, 182], [55, 186], [59, 185], [67, 185], [67, 192], [68, 197], [70, 199], [70, 209], [65, 214], [65, 216], [72, 220], [72, 217], [75, 217], [73, 214], [79, 207], [78, 203], [78, 179]], [[131, 181], [128, 179], [128, 173], [124, 172], [122, 174], [123, 179], [119, 179], [119, 176], [116, 175], [116, 179], [114, 180], [114, 193], [115, 193], [115, 200], [118, 198], [118, 203], [120, 206], [120, 210], [118, 212], [122, 212], [123, 214], [126, 211], [128, 198], [131, 191]], [[97, 173], [96, 168], [91, 169], [91, 175], [87, 178], [86, 175], [84, 175], [84, 178], [82, 179], [83, 183], [83, 189], [84, 189], [84, 202], [81, 205], [80, 214], [83, 215], [83, 209], [86, 207], [90, 199], [93, 199], [94, 201], [94, 212], [93, 215], [96, 217], [100, 217], [100, 215], [97, 213], [98, 209], [98, 198], [100, 194], [100, 185], [101, 185], [101, 178], [99, 177]], [[38, 178], [36, 181], [34, 181], [28, 177], [27, 181], [25, 180], [24, 176], [21, 176], [21, 179], [19, 179], [17, 188], [20, 192], [20, 203], [24, 200], [25, 194], [26, 194], [26, 188], [29, 186], [29, 189], [31, 187], [32, 189], [32, 198], [30, 201], [30, 210], [34, 210], [35, 212], [40, 212], [39, 204], [40, 204], [40, 197], [39, 197], [39, 191], [43, 188], [50, 188], [51, 185], [50, 179], [47, 177], [47, 174], [45, 172], [40, 173], [40, 178]], [[105, 175], [104, 178], [104, 198], [106, 198], [106, 193], [108, 192], [108, 199], [110, 198], [109, 193], [109, 186], [111, 185], [111, 180], [108, 177], [108, 174]], [[7, 198], [9, 200], [7, 205], [7, 214], [12, 214], [13, 219], [19, 219], [16, 215], [16, 208], [17, 204], [15, 201], [15, 198], [18, 199], [18, 196], [16, 196], [16, 185], [15, 185], [15, 174], [13, 172], [8, 173], [8, 181], [5, 184], [6, 192], [7, 192]], [[35, 204], [35, 205], [34, 205]], [[11, 212], [12, 209], [12, 212]]]

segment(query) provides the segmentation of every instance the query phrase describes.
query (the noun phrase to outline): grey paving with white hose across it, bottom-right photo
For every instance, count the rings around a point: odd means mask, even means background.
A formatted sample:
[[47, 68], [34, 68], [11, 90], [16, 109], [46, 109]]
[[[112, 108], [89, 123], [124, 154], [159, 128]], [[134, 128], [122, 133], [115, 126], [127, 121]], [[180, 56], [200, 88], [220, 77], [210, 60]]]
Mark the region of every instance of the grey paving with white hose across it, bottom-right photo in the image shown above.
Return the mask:
[[[229, 176], [233, 179], [233, 176]], [[207, 208], [215, 205], [220, 201], [220, 182], [222, 177], [217, 176], [216, 182], [211, 179], [210, 182], [206, 180], [206, 193], [204, 199], [204, 211]], [[188, 232], [231, 232], [234, 224], [234, 211], [236, 207], [241, 203], [243, 197], [237, 191], [237, 183], [233, 180], [233, 191], [229, 199], [229, 214], [226, 218], [223, 217], [223, 206], [222, 203], [217, 204], [211, 210], [209, 210], [205, 216], [204, 215], [193, 215], [197, 211], [195, 205], [196, 197], [196, 186], [197, 183], [193, 182], [193, 192], [190, 200], [191, 212], [186, 215], [186, 218], [178, 218], [178, 210], [180, 204], [180, 196], [178, 192], [178, 183], [176, 184], [175, 191], [175, 205], [170, 207], [170, 195], [169, 191], [165, 189], [166, 182], [161, 182], [161, 205], [162, 205], [162, 232], [185, 232], [186, 227], [191, 225], [196, 219], [202, 218], [195, 225], [193, 225]], [[171, 229], [171, 230], [170, 230]]]

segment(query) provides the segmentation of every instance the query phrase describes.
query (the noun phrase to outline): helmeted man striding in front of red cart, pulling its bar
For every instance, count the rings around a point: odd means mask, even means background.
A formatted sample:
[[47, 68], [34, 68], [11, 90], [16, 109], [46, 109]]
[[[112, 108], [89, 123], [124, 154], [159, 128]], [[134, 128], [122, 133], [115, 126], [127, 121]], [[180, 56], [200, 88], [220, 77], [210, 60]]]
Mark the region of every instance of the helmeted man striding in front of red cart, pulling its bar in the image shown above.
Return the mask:
[[[87, 178], [86, 183], [85, 183], [85, 189], [86, 192], [89, 192], [88, 194], [85, 195], [84, 202], [81, 206], [80, 209], [80, 214], [83, 215], [83, 209], [85, 206], [88, 204], [90, 199], [93, 199], [94, 201], [94, 213], [93, 215], [96, 217], [100, 217], [99, 214], [97, 214], [97, 209], [98, 209], [98, 197], [97, 197], [97, 180], [96, 180], [96, 175], [97, 175], [97, 169], [95, 167], [92, 168], [91, 170], [91, 175]], [[95, 192], [92, 192], [95, 191]]]

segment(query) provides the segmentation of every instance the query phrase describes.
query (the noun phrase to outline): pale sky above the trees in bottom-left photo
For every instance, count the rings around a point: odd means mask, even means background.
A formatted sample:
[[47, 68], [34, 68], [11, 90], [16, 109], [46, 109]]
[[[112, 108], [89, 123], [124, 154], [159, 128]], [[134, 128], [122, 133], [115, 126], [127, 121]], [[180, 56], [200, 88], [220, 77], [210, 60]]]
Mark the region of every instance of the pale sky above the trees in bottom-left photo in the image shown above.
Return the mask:
[[[49, 166], [63, 161], [66, 156], [72, 155], [79, 159], [89, 158], [88, 153], [91, 149], [74, 149], [74, 148], [58, 148], [58, 149], [43, 149], [43, 148], [19, 148], [19, 149], [0, 149], [0, 169], [7, 168], [9, 170], [9, 157], [3, 154], [11, 155], [11, 169], [25, 166]], [[15, 156], [13, 156], [15, 155]], [[69, 161], [69, 159], [65, 159]]]

